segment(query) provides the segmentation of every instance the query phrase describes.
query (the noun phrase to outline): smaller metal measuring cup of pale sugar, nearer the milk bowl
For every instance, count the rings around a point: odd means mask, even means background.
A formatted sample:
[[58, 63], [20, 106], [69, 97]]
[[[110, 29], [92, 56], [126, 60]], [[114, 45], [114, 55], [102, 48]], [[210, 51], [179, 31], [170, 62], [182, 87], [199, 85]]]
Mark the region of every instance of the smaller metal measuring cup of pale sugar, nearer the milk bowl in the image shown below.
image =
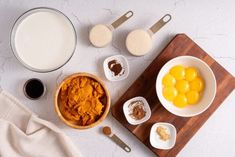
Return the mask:
[[112, 41], [112, 31], [133, 16], [132, 11], [126, 12], [111, 25], [98, 24], [89, 32], [89, 40], [95, 47], [105, 47]]

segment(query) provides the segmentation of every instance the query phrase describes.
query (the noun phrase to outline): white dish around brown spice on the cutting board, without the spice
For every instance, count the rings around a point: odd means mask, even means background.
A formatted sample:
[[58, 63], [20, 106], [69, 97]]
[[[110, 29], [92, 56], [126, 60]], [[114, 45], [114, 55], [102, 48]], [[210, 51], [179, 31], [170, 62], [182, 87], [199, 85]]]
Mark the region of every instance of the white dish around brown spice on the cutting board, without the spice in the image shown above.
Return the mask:
[[[143, 102], [143, 108], [146, 112], [145, 116], [140, 119], [140, 120], [136, 120], [134, 118], [131, 117], [131, 110], [132, 108], [129, 106], [131, 104], [131, 102], [135, 102], [135, 101], [142, 101]], [[149, 107], [149, 104], [147, 102], [147, 100], [144, 98], [144, 97], [134, 97], [132, 99], [129, 99], [128, 101], [126, 101], [124, 104], [123, 104], [123, 112], [124, 112], [124, 115], [126, 117], [126, 120], [128, 121], [128, 123], [132, 124], [132, 125], [138, 125], [138, 124], [141, 124], [141, 123], [144, 123], [146, 122], [150, 117], [151, 117], [151, 109]]]

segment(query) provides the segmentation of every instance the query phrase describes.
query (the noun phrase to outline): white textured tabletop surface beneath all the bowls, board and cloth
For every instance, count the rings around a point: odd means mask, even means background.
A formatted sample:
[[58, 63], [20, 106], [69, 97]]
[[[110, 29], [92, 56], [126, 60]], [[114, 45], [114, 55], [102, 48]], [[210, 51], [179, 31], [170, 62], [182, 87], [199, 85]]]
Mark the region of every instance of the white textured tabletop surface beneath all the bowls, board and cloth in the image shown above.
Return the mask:
[[[10, 46], [10, 29], [14, 20], [24, 11], [38, 6], [63, 11], [77, 29], [78, 44], [73, 58], [63, 68], [40, 74], [25, 69], [14, 58]], [[53, 108], [53, 93], [61, 79], [74, 72], [90, 72], [100, 76], [107, 84], [114, 103], [132, 82], [151, 63], [161, 49], [177, 33], [186, 33], [213, 56], [230, 73], [235, 74], [235, 1], [234, 0], [0, 0], [0, 85], [40, 117], [63, 129], [85, 157], [154, 156], [131, 133], [122, 127], [111, 114], [101, 125], [89, 130], [74, 130], [65, 126]], [[97, 49], [88, 42], [88, 30], [96, 23], [110, 23], [127, 10], [134, 17], [115, 31], [111, 45]], [[134, 28], [148, 28], [166, 13], [173, 20], [156, 36], [154, 48], [147, 56], [130, 56], [124, 46], [127, 33]], [[102, 61], [115, 54], [125, 55], [130, 64], [130, 75], [125, 81], [111, 83], [104, 77]], [[47, 94], [31, 101], [22, 94], [22, 84], [31, 77], [42, 79]], [[235, 156], [235, 92], [223, 102], [204, 126], [178, 154], [188, 156]], [[110, 125], [114, 132], [132, 148], [127, 154], [101, 134], [101, 126]]]

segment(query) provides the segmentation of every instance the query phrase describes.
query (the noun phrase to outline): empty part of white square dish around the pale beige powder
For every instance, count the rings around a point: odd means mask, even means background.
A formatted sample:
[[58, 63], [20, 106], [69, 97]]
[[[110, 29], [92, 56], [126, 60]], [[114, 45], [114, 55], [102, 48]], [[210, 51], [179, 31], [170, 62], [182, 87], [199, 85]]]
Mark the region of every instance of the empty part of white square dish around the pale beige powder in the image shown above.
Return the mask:
[[[157, 133], [157, 128], [161, 126], [163, 128], [166, 128], [166, 131], [170, 134], [170, 139], [164, 141], [160, 138], [160, 136]], [[170, 123], [155, 123], [150, 131], [150, 144], [154, 148], [158, 149], [171, 149], [174, 147], [176, 142], [176, 128], [174, 125]]]

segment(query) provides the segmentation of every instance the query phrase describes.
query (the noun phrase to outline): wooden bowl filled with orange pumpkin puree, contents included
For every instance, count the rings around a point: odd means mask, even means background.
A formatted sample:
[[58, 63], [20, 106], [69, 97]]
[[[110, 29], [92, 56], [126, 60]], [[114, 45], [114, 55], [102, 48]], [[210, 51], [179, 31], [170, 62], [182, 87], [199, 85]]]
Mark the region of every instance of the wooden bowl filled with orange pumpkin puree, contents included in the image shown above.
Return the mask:
[[55, 93], [55, 110], [68, 126], [88, 129], [107, 116], [111, 98], [104, 83], [95, 75], [75, 73], [65, 78]]

